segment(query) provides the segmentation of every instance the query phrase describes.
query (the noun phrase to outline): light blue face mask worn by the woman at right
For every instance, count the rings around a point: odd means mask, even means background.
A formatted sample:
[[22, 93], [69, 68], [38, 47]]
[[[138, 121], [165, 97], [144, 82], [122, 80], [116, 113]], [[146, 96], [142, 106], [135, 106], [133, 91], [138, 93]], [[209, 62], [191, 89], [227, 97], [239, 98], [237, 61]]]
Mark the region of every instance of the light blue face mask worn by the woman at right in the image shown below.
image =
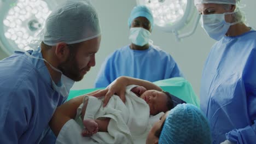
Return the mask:
[[224, 13], [224, 14], [208, 14], [202, 15], [201, 26], [205, 29], [206, 33], [215, 40], [220, 40], [226, 32], [228, 32], [229, 27], [235, 25], [241, 21], [228, 23], [225, 21], [225, 15], [234, 14]]

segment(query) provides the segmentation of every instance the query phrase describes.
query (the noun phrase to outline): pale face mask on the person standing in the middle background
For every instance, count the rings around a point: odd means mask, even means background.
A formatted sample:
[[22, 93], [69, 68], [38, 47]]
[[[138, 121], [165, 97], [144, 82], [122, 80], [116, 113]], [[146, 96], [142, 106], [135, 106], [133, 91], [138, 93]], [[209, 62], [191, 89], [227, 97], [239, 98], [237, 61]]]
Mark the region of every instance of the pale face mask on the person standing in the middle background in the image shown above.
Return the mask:
[[138, 46], [144, 46], [149, 42], [149, 36], [151, 33], [142, 27], [132, 27], [130, 28], [130, 37], [132, 44]]

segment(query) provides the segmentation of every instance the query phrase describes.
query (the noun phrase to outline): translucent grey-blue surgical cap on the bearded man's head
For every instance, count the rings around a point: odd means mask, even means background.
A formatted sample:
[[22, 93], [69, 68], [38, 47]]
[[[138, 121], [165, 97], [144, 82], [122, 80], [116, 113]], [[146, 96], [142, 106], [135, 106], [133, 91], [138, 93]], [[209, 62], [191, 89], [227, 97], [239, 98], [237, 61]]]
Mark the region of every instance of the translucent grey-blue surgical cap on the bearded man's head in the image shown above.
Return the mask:
[[101, 35], [96, 10], [86, 1], [67, 1], [46, 19], [43, 42], [76, 44]]

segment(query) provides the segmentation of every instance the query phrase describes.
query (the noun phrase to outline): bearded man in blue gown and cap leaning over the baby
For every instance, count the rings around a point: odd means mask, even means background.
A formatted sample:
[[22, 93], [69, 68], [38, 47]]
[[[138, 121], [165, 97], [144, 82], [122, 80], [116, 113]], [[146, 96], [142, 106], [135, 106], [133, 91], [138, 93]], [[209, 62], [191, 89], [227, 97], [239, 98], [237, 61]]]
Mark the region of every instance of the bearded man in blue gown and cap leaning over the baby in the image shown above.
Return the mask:
[[48, 123], [74, 81], [94, 67], [100, 40], [92, 5], [69, 1], [46, 19], [37, 50], [0, 61], [0, 143], [55, 143]]

